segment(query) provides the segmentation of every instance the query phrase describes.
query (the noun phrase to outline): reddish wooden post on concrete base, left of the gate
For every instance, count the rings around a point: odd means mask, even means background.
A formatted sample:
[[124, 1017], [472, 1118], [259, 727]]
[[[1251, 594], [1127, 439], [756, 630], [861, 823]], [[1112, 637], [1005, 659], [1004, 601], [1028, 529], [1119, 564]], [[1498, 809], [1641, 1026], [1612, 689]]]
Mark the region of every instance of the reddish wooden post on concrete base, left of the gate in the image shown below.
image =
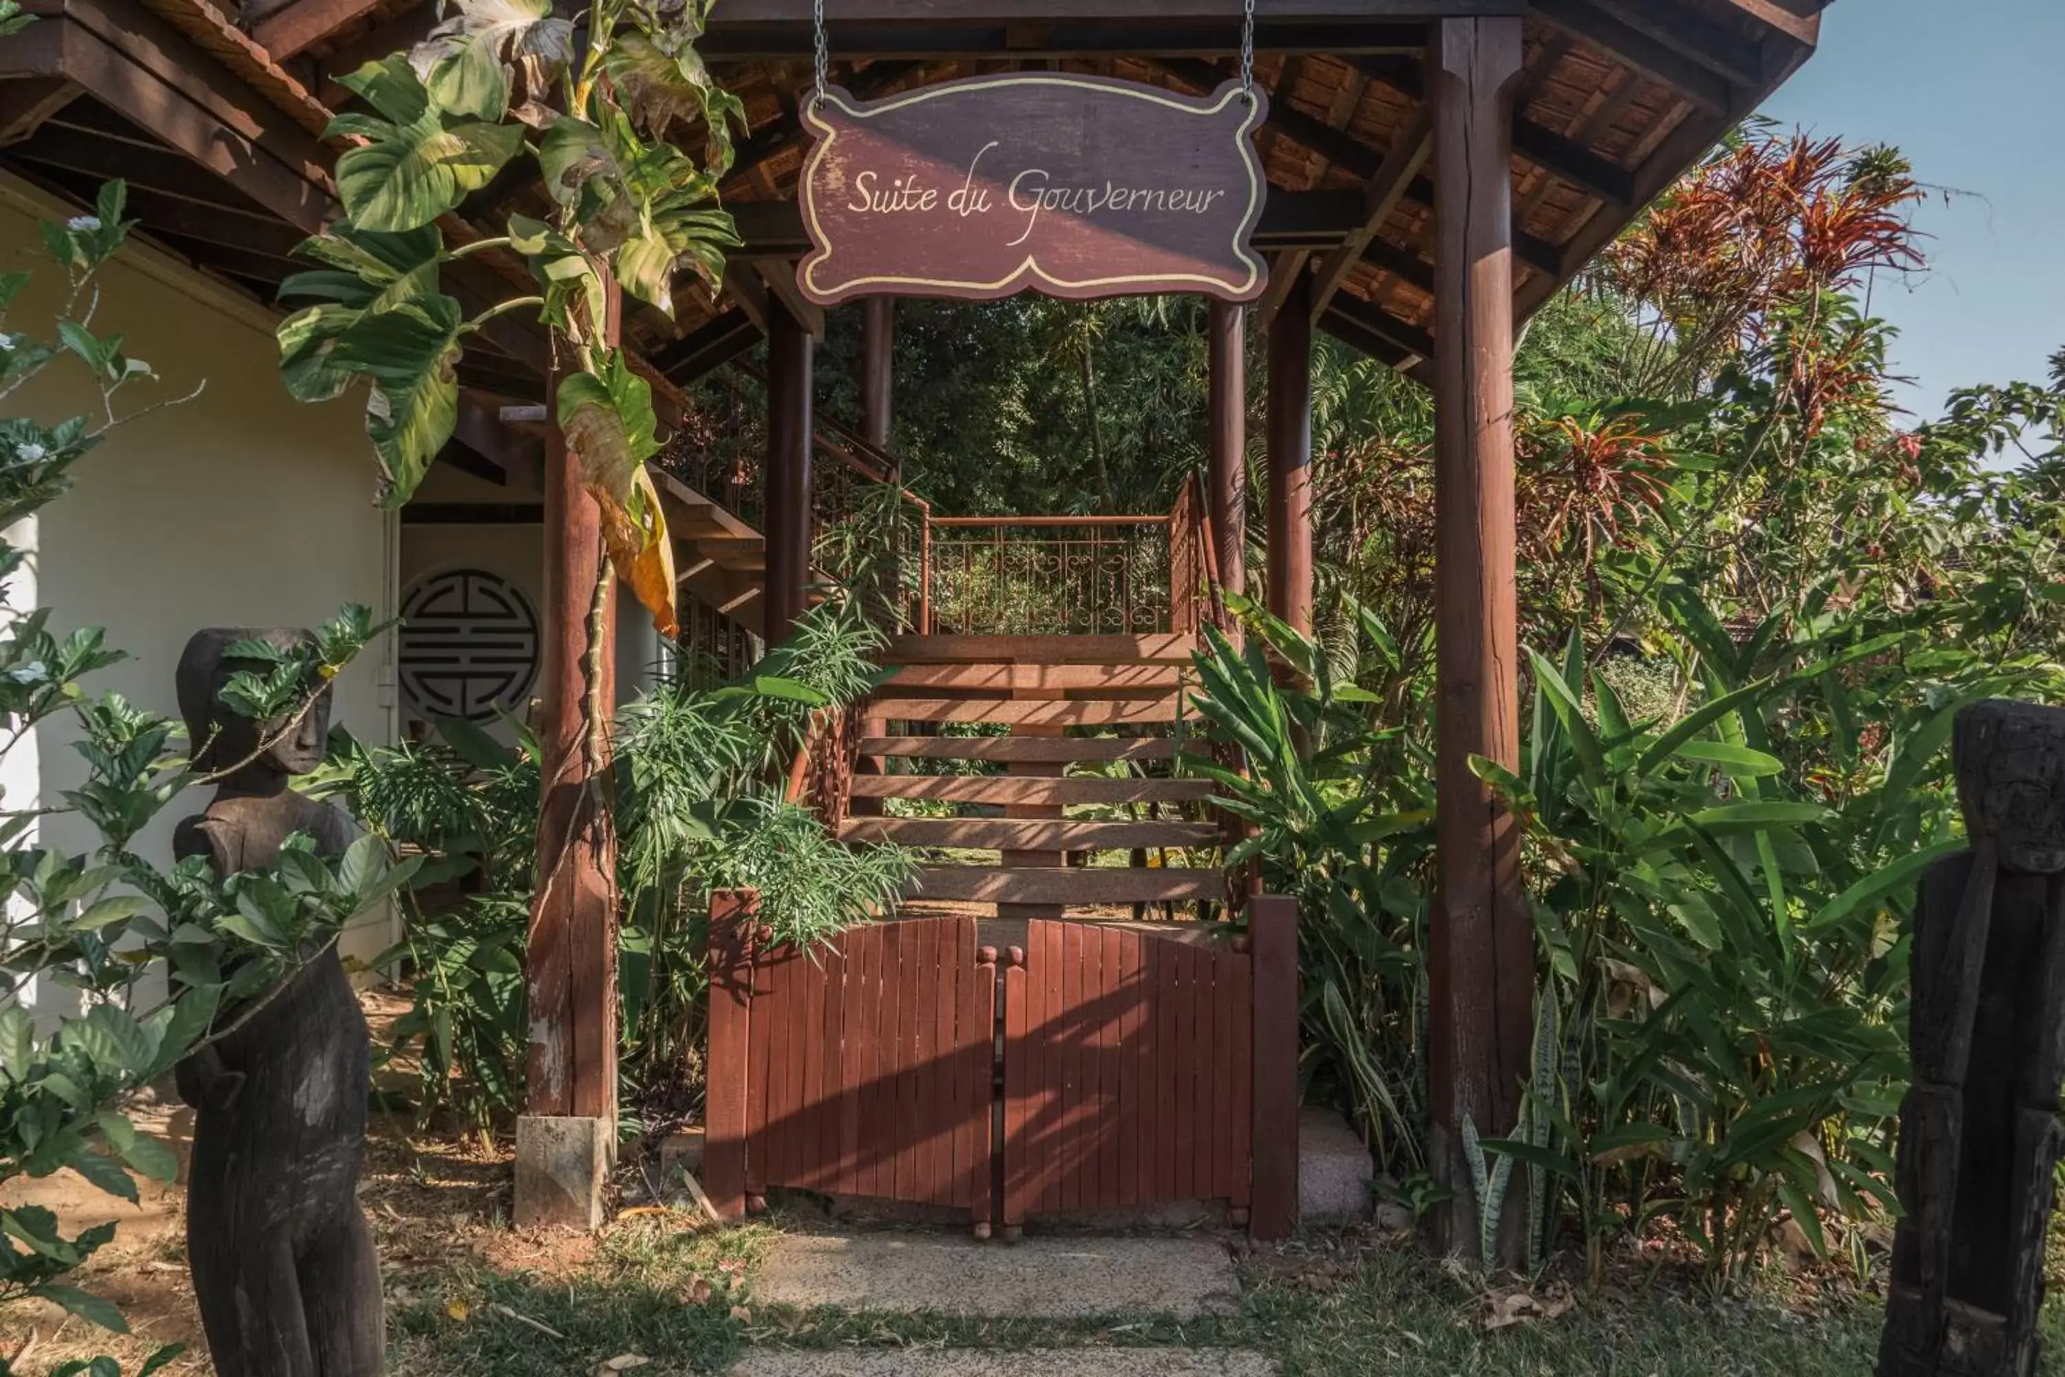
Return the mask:
[[[622, 295], [605, 283], [617, 339]], [[558, 394], [558, 370], [547, 403]], [[539, 718], [547, 780], [537, 896], [525, 958], [531, 1045], [516, 1125], [516, 1222], [595, 1228], [617, 1142], [617, 886], [607, 723], [615, 704], [615, 605], [603, 526], [558, 423], [545, 431], [545, 654]], [[593, 677], [593, 683], [591, 683]], [[593, 731], [593, 737], [591, 737]]]

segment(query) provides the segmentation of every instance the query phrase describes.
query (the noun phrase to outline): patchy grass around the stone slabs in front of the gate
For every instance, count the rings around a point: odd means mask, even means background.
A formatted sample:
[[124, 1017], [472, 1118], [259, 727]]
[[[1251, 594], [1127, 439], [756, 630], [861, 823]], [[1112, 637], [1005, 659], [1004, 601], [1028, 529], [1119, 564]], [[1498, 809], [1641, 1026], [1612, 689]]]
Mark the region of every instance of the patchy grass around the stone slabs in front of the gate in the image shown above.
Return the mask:
[[[799, 1313], [752, 1303], [752, 1263], [772, 1239], [768, 1226], [696, 1235], [655, 1216], [537, 1272], [471, 1266], [399, 1278], [396, 1377], [560, 1377], [620, 1354], [650, 1358], [634, 1371], [659, 1377], [721, 1369], [750, 1344], [1249, 1346], [1278, 1356], [1286, 1377], [1850, 1377], [1871, 1371], [1879, 1334], [1877, 1296], [1842, 1280], [1780, 1276], [1735, 1299], [1662, 1278], [1600, 1296], [1549, 1286], [1538, 1311], [1561, 1313], [1491, 1327], [1501, 1292], [1410, 1245], [1365, 1237], [1249, 1255], [1241, 1309], [1208, 1321]], [[2051, 1307], [2046, 1327], [2051, 1352], [2065, 1354], [2065, 1307]]]

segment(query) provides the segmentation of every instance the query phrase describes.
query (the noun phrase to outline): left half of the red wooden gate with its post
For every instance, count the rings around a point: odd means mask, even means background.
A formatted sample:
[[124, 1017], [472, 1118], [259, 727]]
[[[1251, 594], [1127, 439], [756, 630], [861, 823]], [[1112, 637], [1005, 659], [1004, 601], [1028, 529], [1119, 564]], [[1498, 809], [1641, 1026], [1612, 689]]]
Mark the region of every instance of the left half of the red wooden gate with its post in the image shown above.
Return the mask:
[[[706, 1175], [719, 1212], [770, 1185], [991, 1216], [995, 954], [975, 919], [754, 941], [750, 896], [712, 902]], [[741, 1074], [743, 1071], [743, 1074]]]

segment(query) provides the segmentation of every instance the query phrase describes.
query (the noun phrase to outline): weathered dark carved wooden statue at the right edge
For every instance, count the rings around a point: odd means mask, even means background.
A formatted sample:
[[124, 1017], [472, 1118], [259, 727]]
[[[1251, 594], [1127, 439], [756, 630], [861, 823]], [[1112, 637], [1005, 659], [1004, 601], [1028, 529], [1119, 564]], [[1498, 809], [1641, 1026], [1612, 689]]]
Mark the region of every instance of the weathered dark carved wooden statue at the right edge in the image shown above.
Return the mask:
[[1879, 1377], [2032, 1377], [2065, 1078], [2065, 708], [1980, 702], [1970, 851], [1914, 908], [1912, 1088]]

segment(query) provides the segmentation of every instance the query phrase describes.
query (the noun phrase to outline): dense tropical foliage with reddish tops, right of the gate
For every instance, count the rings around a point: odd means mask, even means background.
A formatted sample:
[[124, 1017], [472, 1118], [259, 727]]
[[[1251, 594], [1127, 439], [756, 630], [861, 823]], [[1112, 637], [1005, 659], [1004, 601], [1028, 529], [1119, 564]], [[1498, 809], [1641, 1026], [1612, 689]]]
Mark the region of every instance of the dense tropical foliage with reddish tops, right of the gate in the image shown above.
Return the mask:
[[[1532, 725], [1518, 772], [1479, 772], [1524, 828], [1536, 1055], [1520, 1123], [1464, 1125], [1487, 1253], [1526, 1208], [1536, 1257], [1567, 1224], [1596, 1274], [1664, 1230], [1730, 1280], [1780, 1226], [1863, 1259], [1896, 1208], [1906, 917], [1960, 844], [1951, 718], [2065, 696], [2065, 372], [1898, 425], [1863, 293], [1918, 266], [1914, 194], [1883, 149], [1751, 130], [1532, 326]], [[1249, 762], [1222, 776], [1247, 851], [1303, 900], [1313, 1094], [1425, 1206], [1431, 434], [1340, 359], [1315, 429], [1315, 638], [1243, 609], [1204, 710]]]

